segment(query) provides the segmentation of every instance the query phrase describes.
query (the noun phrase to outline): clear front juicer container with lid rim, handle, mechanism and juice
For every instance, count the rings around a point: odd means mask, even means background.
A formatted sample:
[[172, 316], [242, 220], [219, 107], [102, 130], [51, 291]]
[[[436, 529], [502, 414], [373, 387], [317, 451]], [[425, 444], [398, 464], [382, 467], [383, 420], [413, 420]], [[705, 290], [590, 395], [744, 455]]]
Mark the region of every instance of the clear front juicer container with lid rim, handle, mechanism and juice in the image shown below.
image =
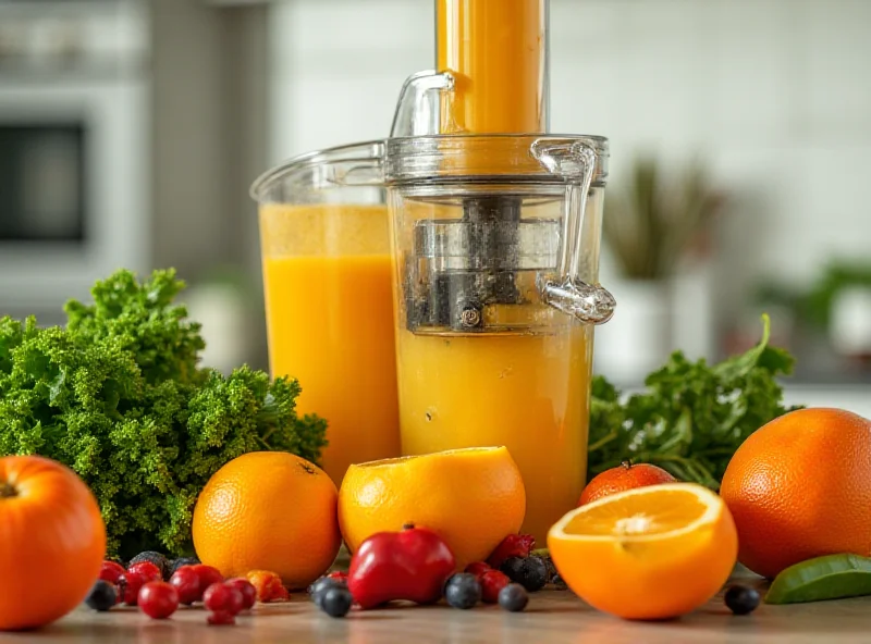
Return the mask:
[[586, 482], [608, 141], [385, 141], [405, 455], [504, 445], [544, 543]]

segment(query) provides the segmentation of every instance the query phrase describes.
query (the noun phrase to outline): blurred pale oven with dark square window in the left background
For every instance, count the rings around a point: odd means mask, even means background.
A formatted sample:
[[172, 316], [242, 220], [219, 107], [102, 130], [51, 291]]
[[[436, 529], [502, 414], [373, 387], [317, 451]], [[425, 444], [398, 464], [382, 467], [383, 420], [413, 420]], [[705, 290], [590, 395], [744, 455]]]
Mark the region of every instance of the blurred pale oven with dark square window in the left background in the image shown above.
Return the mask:
[[0, 2], [0, 314], [148, 265], [145, 20], [131, 1]]

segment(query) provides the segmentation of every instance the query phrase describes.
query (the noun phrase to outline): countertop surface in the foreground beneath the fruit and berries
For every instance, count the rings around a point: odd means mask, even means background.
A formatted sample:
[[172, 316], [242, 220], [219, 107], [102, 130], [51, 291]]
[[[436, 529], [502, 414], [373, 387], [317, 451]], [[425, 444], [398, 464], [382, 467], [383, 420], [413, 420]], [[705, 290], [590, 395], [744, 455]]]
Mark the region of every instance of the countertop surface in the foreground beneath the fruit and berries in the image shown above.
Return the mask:
[[[745, 580], [741, 580], [743, 582]], [[674, 642], [748, 644], [871, 641], [871, 597], [792, 606], [760, 606], [733, 616], [716, 597], [679, 620], [628, 622], [598, 612], [569, 591], [545, 590], [531, 596], [522, 614], [496, 606], [456, 610], [446, 606], [395, 607], [353, 611], [332, 619], [304, 594], [290, 604], [258, 607], [235, 627], [207, 627], [201, 608], [179, 610], [155, 621], [135, 608], [98, 614], [79, 609], [33, 633], [0, 634], [0, 644], [418, 644], [487, 643], [672, 644]]]

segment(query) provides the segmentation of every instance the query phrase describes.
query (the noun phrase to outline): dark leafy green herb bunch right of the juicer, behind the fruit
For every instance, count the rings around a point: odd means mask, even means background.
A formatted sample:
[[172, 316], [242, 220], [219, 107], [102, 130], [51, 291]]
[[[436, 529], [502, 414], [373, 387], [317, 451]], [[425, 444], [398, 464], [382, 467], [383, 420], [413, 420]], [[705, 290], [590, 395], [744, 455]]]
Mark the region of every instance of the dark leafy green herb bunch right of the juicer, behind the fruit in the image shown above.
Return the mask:
[[625, 400], [605, 379], [594, 377], [589, 476], [628, 458], [717, 490], [738, 446], [789, 411], [776, 376], [790, 373], [794, 360], [769, 346], [769, 334], [765, 315], [756, 347], [714, 366], [676, 351], [647, 377], [645, 392]]

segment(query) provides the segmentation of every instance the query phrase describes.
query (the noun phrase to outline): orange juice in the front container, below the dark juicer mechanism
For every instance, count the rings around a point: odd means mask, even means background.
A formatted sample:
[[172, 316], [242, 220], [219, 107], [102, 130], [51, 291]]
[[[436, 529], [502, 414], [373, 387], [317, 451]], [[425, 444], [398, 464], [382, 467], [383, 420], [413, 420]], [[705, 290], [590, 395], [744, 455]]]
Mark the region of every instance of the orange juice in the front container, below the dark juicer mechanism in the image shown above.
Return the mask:
[[585, 484], [592, 327], [541, 335], [398, 335], [403, 454], [505, 445], [545, 543]]

